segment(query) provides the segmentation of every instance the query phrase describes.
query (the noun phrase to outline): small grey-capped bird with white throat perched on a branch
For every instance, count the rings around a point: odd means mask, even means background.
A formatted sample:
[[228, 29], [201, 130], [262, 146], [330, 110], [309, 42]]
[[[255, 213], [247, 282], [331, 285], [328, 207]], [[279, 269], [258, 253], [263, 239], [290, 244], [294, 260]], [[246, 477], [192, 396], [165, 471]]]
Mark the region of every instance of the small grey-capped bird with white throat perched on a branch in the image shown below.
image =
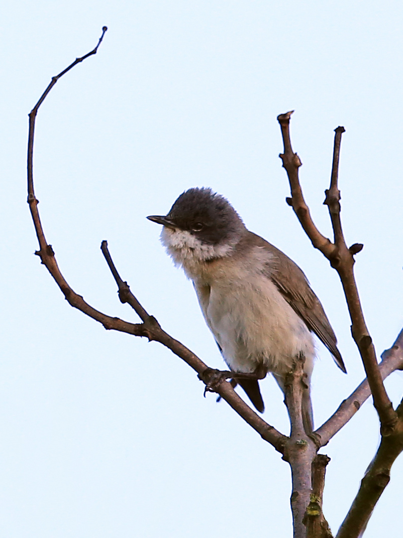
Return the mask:
[[263, 413], [264, 404], [258, 379], [271, 372], [284, 391], [286, 374], [295, 358], [304, 355], [307, 390], [302, 410], [305, 429], [312, 431], [312, 332], [343, 372], [346, 367], [303, 271], [250, 232], [224, 196], [210, 188], [186, 190], [168, 215], [147, 218], [163, 225], [162, 244], [193, 281], [222, 357], [259, 412]]

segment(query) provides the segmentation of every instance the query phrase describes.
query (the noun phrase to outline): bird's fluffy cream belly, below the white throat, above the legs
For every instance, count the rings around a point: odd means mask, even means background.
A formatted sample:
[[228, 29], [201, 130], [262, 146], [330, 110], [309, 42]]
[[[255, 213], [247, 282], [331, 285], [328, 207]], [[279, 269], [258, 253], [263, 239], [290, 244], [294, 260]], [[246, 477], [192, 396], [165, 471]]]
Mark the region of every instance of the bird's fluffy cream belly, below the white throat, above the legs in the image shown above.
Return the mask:
[[206, 321], [228, 366], [251, 372], [263, 364], [283, 376], [303, 352], [310, 373], [314, 344], [310, 330], [267, 278], [242, 286], [213, 285], [205, 305]]

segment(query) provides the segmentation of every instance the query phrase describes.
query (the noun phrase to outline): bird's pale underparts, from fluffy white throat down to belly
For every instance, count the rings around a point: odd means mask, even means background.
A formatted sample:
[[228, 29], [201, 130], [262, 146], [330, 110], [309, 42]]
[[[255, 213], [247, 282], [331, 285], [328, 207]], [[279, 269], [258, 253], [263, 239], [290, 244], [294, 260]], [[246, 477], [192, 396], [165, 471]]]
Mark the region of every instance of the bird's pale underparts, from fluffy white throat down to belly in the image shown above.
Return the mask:
[[232, 255], [232, 245], [219, 252], [219, 246], [203, 245], [186, 231], [164, 228], [161, 239], [193, 280], [207, 325], [231, 370], [252, 372], [263, 364], [282, 377], [303, 352], [310, 375], [315, 354], [311, 332], [267, 275], [267, 251], [256, 247], [242, 260]]

